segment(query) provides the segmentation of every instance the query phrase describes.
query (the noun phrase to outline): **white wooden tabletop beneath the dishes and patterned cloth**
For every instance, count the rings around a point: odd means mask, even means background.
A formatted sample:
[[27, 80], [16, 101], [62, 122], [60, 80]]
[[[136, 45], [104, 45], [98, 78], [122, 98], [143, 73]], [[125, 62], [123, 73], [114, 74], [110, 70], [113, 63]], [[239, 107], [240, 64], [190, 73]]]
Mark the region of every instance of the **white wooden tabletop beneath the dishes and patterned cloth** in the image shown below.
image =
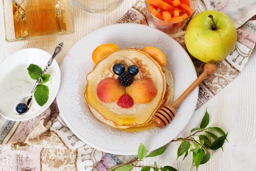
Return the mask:
[[[0, 63], [10, 54], [24, 48], [39, 48], [52, 53], [58, 42], [65, 42], [64, 52], [57, 57], [60, 64], [65, 54], [83, 36], [114, 24], [137, 0], [125, 0], [116, 10], [108, 13], [90, 14], [74, 9], [75, 33], [44, 40], [30, 40], [7, 43], [4, 39], [4, 23], [0, 11]], [[219, 149], [211, 153], [208, 163], [199, 170], [255, 170], [256, 169], [256, 51], [254, 50], [242, 73], [224, 90], [198, 109], [184, 131], [179, 136], [186, 136], [193, 127], [200, 124], [205, 108], [210, 113], [210, 125], [222, 127], [228, 132], [229, 143], [224, 145], [224, 152]], [[179, 170], [190, 170], [191, 158], [184, 161], [177, 158], [179, 143], [169, 144], [166, 152], [156, 158], [148, 158], [143, 164], [151, 165], [154, 161], [161, 166], [172, 165]], [[193, 168], [195, 170], [195, 167]]]

